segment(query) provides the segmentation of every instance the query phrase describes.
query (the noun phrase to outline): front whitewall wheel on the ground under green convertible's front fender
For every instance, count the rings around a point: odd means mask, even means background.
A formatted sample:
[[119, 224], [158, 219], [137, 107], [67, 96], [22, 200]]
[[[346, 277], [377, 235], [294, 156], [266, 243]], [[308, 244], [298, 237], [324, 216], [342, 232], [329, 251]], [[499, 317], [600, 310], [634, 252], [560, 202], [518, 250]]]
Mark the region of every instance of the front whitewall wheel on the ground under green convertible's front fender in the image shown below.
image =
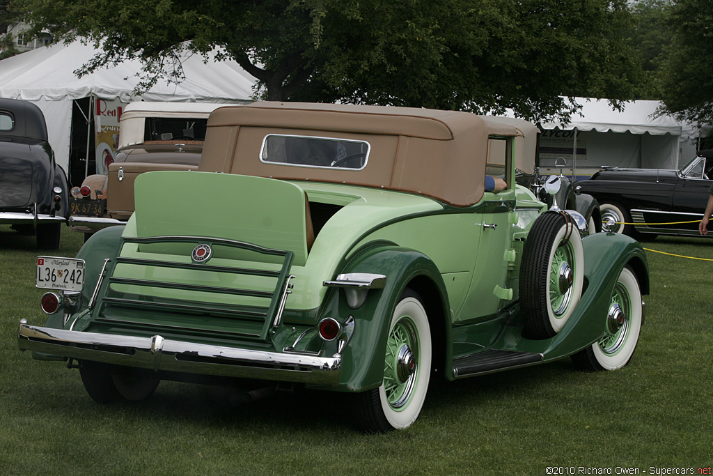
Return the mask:
[[643, 319], [641, 290], [630, 268], [622, 269], [612, 290], [602, 338], [572, 356], [581, 370], [616, 370], [632, 358]]

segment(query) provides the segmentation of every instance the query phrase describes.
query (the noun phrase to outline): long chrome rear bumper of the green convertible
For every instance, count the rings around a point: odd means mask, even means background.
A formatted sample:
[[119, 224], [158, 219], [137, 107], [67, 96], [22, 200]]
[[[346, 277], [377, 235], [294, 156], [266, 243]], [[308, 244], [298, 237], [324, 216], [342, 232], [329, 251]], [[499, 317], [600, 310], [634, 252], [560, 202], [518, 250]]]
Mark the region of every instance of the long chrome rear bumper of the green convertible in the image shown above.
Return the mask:
[[20, 350], [171, 372], [337, 385], [342, 358], [43, 328], [20, 321]]

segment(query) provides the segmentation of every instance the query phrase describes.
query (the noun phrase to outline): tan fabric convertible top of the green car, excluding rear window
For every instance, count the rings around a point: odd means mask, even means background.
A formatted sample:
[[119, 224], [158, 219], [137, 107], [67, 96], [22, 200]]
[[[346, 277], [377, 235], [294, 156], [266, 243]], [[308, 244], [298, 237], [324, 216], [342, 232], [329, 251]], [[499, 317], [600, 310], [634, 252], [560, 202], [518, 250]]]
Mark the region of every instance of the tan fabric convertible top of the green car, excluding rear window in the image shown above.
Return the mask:
[[[519, 119], [459, 111], [256, 102], [210, 114], [200, 170], [387, 188], [470, 206], [483, 196], [488, 138], [533, 130]], [[260, 150], [269, 134], [366, 141], [371, 151], [361, 170], [266, 163]]]

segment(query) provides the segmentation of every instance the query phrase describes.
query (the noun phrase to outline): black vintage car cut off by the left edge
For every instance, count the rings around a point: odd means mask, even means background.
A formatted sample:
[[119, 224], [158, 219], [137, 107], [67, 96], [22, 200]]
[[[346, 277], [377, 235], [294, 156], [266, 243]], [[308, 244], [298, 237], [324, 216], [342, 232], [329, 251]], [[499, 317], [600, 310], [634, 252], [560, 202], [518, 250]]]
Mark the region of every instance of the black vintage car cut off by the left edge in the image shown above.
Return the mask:
[[67, 189], [42, 111], [27, 101], [0, 98], [0, 224], [35, 233], [39, 248], [58, 248]]

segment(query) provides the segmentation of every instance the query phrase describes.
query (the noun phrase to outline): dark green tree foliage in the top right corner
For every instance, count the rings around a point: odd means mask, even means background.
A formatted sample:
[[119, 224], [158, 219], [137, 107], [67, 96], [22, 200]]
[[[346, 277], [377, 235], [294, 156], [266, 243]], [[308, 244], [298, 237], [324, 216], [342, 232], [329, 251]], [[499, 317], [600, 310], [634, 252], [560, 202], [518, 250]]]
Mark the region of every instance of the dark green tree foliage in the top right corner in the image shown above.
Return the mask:
[[662, 72], [668, 111], [694, 123], [713, 123], [713, 0], [677, 0], [670, 16], [672, 43]]

